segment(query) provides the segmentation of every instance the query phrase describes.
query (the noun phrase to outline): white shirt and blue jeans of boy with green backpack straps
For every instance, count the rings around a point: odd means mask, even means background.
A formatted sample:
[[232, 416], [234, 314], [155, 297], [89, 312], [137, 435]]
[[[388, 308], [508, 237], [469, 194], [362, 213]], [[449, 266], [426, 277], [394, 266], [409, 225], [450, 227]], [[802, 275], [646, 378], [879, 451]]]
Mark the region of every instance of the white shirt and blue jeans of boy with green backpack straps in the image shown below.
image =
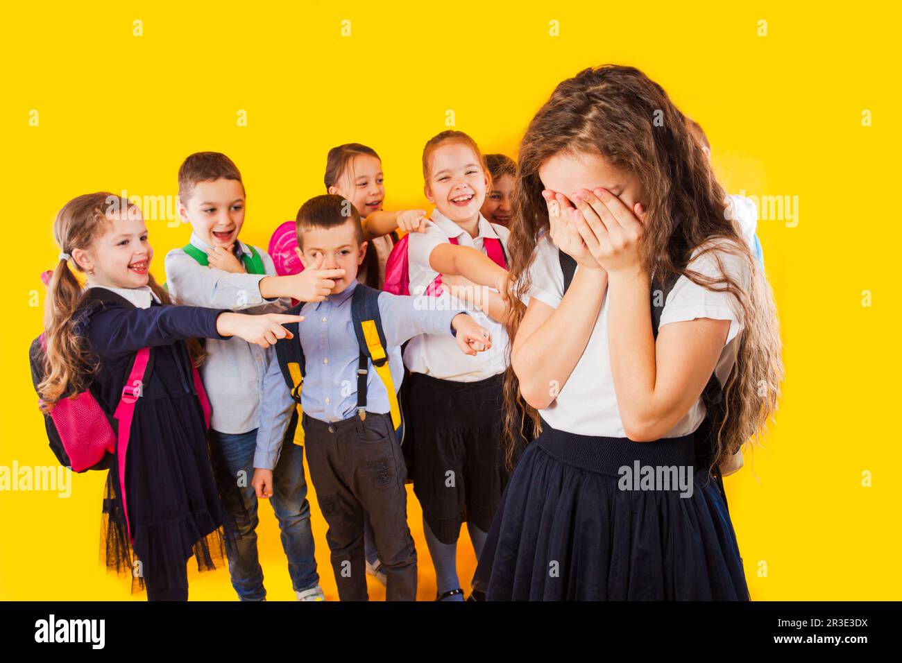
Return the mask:
[[[212, 246], [195, 233], [190, 244], [204, 253]], [[235, 257], [252, 255], [251, 247], [235, 242]], [[224, 307], [250, 315], [281, 313], [290, 299], [265, 299], [260, 281], [277, 276], [268, 253], [259, 247], [264, 273], [231, 273], [200, 264], [184, 249], [166, 255], [166, 278], [170, 295], [189, 306]], [[242, 338], [205, 342], [207, 359], [200, 374], [212, 408], [210, 449], [214, 458], [216, 481], [226, 496], [223, 505], [236, 523], [236, 536], [227, 548], [229, 574], [235, 593], [242, 601], [262, 601], [266, 597], [263, 571], [257, 552], [257, 494], [250, 482], [253, 456], [260, 425], [263, 376], [275, 363], [274, 348], [262, 348]], [[290, 442], [290, 441], [289, 441]], [[244, 481], [240, 479], [244, 477]], [[291, 586], [296, 593], [319, 583], [314, 555], [310, 505], [304, 478], [302, 447], [289, 444], [272, 475], [272, 511], [279, 520], [282, 548], [288, 558]]]

